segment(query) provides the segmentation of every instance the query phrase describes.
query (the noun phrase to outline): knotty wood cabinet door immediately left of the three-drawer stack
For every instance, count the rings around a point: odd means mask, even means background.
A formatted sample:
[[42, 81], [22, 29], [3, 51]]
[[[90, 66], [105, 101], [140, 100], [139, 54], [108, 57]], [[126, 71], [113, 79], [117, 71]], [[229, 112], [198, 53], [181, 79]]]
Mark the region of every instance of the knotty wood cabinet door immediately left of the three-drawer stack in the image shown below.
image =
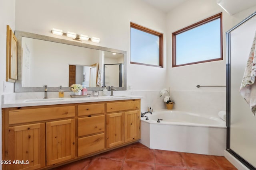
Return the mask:
[[46, 165], [75, 157], [75, 120], [46, 123]]

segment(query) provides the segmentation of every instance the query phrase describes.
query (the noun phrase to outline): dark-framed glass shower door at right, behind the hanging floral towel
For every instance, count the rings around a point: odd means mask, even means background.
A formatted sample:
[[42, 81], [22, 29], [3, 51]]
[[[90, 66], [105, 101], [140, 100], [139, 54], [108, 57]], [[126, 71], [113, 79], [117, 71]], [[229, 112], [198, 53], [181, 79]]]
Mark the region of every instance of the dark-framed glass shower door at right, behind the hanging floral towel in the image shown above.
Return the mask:
[[226, 150], [250, 170], [256, 170], [256, 116], [253, 116], [239, 90], [255, 31], [256, 12], [226, 33], [226, 111], [228, 113]]

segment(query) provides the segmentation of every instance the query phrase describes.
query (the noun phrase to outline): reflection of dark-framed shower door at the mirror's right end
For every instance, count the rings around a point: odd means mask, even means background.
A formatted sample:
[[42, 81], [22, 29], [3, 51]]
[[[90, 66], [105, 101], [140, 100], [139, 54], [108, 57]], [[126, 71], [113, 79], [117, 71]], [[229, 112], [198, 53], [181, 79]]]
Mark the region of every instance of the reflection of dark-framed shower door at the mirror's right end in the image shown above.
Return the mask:
[[104, 86], [122, 87], [124, 64], [104, 64]]

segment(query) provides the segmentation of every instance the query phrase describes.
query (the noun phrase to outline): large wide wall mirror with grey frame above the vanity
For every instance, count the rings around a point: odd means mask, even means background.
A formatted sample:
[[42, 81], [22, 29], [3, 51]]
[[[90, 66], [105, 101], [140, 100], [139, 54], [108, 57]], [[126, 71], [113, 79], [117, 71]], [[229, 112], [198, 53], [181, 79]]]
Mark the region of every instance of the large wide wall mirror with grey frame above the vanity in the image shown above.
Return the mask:
[[[15, 31], [18, 39], [18, 80], [14, 92], [55, 92], [62, 86], [70, 91], [71, 84], [82, 84], [92, 90], [104, 86], [104, 65], [122, 65], [122, 85], [119, 76], [108, 86], [126, 90], [126, 51], [69, 41], [33, 33]], [[120, 70], [112, 72], [119, 75]], [[105, 85], [106, 86], [106, 85]]]

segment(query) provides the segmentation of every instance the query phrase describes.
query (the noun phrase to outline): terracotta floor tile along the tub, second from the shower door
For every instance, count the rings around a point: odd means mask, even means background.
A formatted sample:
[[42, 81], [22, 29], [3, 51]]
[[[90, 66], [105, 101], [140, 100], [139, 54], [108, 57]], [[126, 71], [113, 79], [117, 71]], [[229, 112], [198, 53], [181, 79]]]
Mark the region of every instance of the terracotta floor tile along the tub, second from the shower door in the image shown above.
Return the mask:
[[208, 155], [181, 153], [188, 168], [204, 170], [222, 170], [220, 166]]

